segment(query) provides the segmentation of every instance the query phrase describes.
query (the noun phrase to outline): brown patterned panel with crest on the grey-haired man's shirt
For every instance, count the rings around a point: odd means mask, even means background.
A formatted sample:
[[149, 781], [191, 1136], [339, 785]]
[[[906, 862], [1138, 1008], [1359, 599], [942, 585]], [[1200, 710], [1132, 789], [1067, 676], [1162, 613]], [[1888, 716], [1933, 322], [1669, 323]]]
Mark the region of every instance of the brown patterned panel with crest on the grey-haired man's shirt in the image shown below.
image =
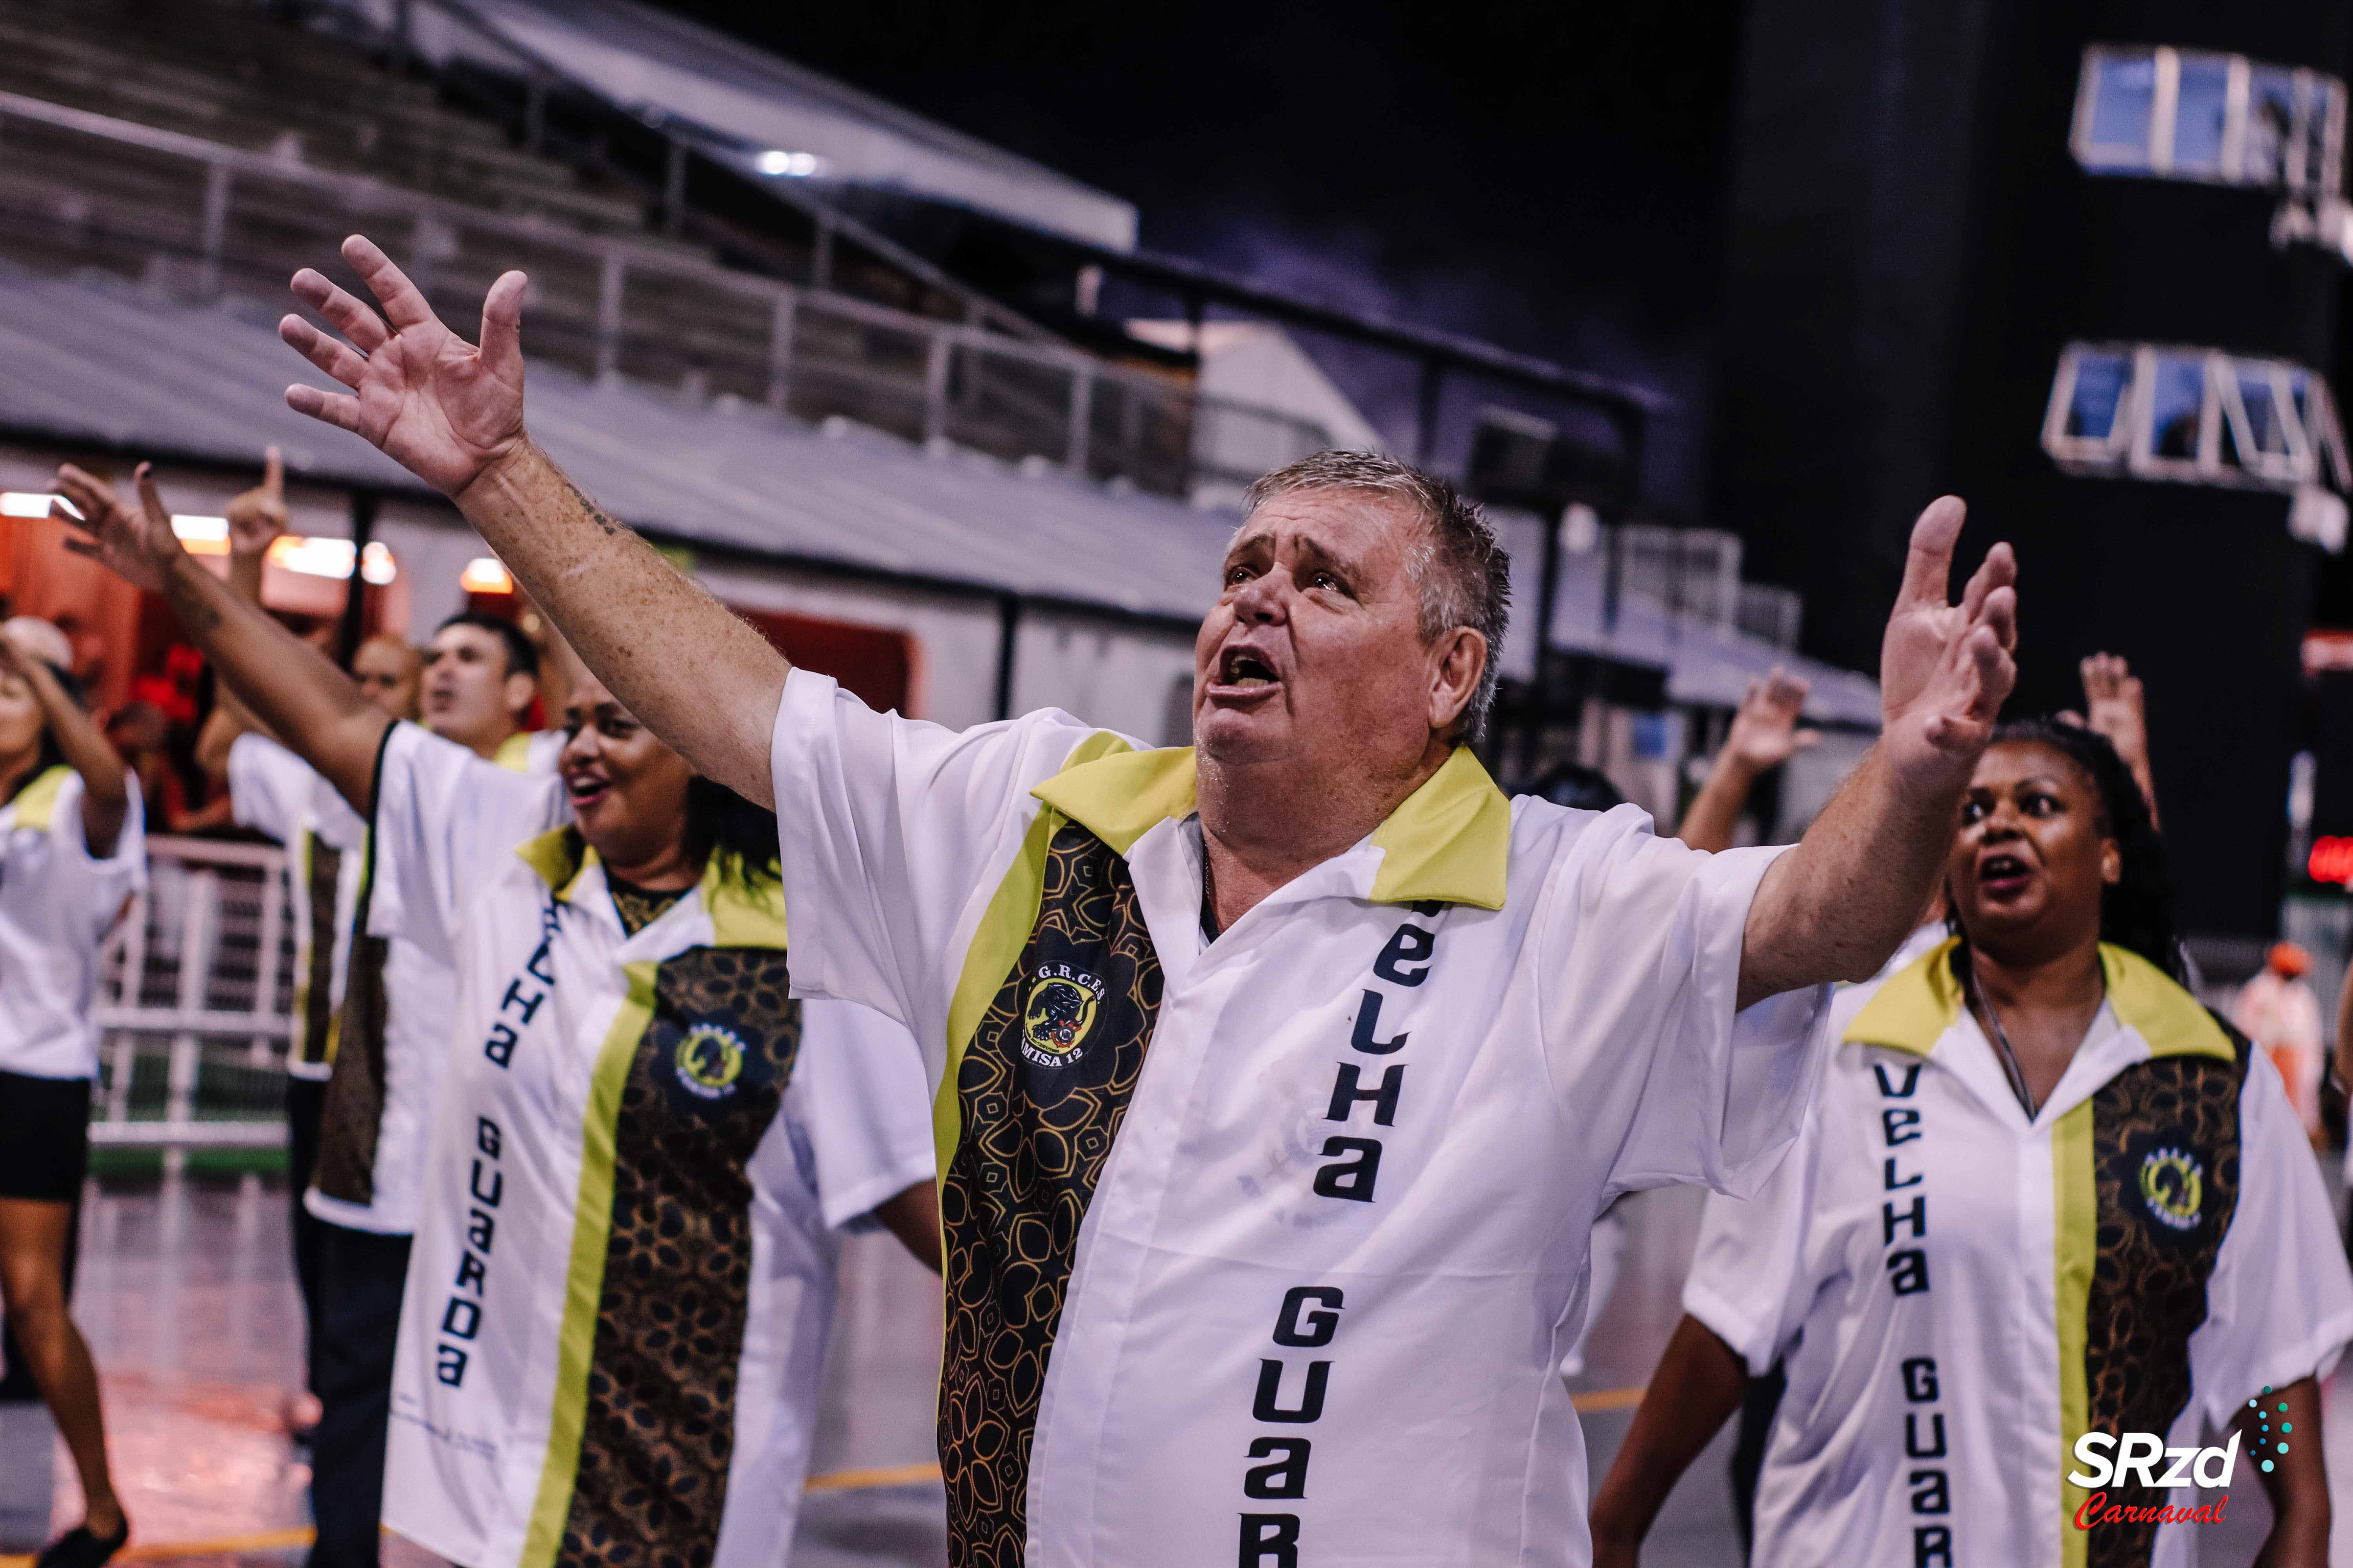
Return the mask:
[[962, 1138], [939, 1197], [939, 1462], [955, 1568], [1019, 1568], [1028, 1549], [1031, 1436], [1078, 1227], [1158, 1016], [1160, 954], [1127, 863], [1064, 825], [1038, 924], [955, 1077]]

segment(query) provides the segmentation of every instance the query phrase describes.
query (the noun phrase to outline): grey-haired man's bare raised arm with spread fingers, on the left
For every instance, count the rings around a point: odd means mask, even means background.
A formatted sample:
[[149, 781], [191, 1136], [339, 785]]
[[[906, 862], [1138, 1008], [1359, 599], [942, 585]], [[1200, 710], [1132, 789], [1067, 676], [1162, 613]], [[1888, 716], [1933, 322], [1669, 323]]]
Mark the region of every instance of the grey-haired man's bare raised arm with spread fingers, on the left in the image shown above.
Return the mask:
[[369, 240], [344, 240], [344, 261], [384, 315], [311, 268], [296, 273], [294, 294], [344, 336], [299, 315], [278, 336], [351, 393], [289, 386], [287, 404], [367, 437], [449, 496], [631, 712], [694, 771], [772, 804], [767, 748], [791, 665], [598, 510], [525, 433], [522, 273], [489, 287], [473, 346]]

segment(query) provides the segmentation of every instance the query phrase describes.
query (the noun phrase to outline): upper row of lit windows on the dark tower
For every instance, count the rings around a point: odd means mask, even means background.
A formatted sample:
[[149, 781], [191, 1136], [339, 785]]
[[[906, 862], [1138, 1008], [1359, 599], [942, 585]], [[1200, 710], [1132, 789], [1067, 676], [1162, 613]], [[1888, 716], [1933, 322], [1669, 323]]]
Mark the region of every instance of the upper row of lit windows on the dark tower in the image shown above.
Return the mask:
[[2334, 195], [2346, 87], [2242, 54], [2092, 45], [2075, 87], [2075, 162], [2221, 186]]

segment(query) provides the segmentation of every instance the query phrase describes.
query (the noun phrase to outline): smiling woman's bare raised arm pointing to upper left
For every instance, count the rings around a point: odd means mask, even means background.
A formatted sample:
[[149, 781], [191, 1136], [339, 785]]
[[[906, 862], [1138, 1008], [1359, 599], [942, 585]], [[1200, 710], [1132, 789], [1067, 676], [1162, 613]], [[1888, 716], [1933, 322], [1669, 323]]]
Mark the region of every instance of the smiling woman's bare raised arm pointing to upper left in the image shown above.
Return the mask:
[[78, 534], [66, 548], [104, 562], [134, 588], [160, 592], [247, 708], [367, 816], [376, 748], [391, 719], [325, 654], [245, 602], [179, 545], [146, 463], [136, 484], [139, 505], [129, 508], [111, 484], [73, 463], [59, 468], [56, 487], [80, 510], [80, 517], [64, 508], [49, 512]]

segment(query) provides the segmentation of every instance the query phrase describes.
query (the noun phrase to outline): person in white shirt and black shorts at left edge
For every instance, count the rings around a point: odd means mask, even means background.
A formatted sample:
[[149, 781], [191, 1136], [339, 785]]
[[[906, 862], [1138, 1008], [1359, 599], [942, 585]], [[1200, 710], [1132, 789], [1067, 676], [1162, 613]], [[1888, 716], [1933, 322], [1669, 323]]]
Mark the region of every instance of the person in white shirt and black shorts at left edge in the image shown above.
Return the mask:
[[66, 1234], [89, 1168], [99, 940], [141, 882], [146, 844], [129, 769], [54, 663], [66, 656], [47, 621], [0, 635], [0, 1300], [82, 1479], [82, 1523], [40, 1566], [96, 1568], [129, 1521], [99, 1375], [66, 1312]]

